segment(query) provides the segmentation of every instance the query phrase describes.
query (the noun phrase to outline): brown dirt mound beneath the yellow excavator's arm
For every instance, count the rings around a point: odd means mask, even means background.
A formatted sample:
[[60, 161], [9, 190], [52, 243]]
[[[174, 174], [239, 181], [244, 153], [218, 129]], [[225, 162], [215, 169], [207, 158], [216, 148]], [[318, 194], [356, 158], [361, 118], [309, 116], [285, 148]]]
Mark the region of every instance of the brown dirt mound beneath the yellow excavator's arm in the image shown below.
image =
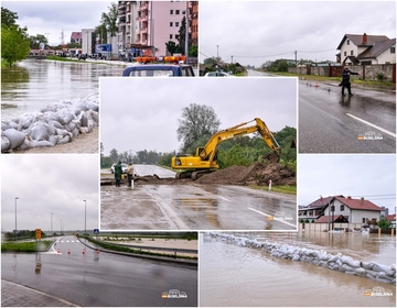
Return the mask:
[[219, 184], [219, 185], [297, 185], [294, 172], [281, 164], [255, 163], [249, 167], [230, 166], [216, 170], [195, 180], [198, 184]]

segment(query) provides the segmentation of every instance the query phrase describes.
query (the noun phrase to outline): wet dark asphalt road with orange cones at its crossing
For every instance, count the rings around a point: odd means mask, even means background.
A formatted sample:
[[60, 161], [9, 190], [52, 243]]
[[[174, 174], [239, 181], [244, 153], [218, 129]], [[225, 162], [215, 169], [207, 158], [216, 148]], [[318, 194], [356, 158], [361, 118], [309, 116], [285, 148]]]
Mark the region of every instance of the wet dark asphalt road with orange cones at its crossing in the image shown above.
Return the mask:
[[[47, 253], [2, 253], [1, 277], [79, 306], [197, 306], [196, 267], [84, 248], [63, 237]], [[172, 289], [187, 297], [162, 298]]]

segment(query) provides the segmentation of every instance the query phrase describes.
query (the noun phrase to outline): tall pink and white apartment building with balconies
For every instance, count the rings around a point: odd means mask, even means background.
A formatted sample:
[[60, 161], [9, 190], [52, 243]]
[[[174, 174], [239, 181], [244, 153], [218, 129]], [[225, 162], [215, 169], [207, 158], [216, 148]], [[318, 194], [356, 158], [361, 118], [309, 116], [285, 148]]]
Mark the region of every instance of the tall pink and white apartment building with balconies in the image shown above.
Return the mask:
[[197, 1], [119, 1], [119, 51], [131, 53], [133, 56], [167, 55], [168, 42], [179, 44], [179, 31], [183, 18], [187, 18], [189, 42], [196, 45]]

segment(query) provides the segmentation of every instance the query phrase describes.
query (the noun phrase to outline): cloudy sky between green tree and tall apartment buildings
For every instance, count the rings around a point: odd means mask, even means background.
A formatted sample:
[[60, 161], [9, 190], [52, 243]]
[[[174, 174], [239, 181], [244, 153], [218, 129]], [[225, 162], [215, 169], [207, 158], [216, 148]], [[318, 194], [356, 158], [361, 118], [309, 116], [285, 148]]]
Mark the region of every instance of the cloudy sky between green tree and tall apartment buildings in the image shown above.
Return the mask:
[[1, 1], [1, 7], [18, 14], [17, 24], [26, 26], [29, 35], [43, 34], [50, 45], [58, 45], [62, 31], [67, 44], [72, 32], [99, 25], [111, 2], [117, 1]]

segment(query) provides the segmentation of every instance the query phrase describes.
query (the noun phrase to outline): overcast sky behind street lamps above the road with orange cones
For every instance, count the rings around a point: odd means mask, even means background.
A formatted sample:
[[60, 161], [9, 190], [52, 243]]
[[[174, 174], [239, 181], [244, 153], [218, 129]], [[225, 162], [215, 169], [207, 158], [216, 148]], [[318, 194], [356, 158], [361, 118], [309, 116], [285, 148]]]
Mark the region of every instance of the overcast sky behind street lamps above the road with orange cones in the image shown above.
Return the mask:
[[[97, 155], [1, 155], [1, 231], [98, 228]], [[84, 202], [83, 200], [86, 200]]]

